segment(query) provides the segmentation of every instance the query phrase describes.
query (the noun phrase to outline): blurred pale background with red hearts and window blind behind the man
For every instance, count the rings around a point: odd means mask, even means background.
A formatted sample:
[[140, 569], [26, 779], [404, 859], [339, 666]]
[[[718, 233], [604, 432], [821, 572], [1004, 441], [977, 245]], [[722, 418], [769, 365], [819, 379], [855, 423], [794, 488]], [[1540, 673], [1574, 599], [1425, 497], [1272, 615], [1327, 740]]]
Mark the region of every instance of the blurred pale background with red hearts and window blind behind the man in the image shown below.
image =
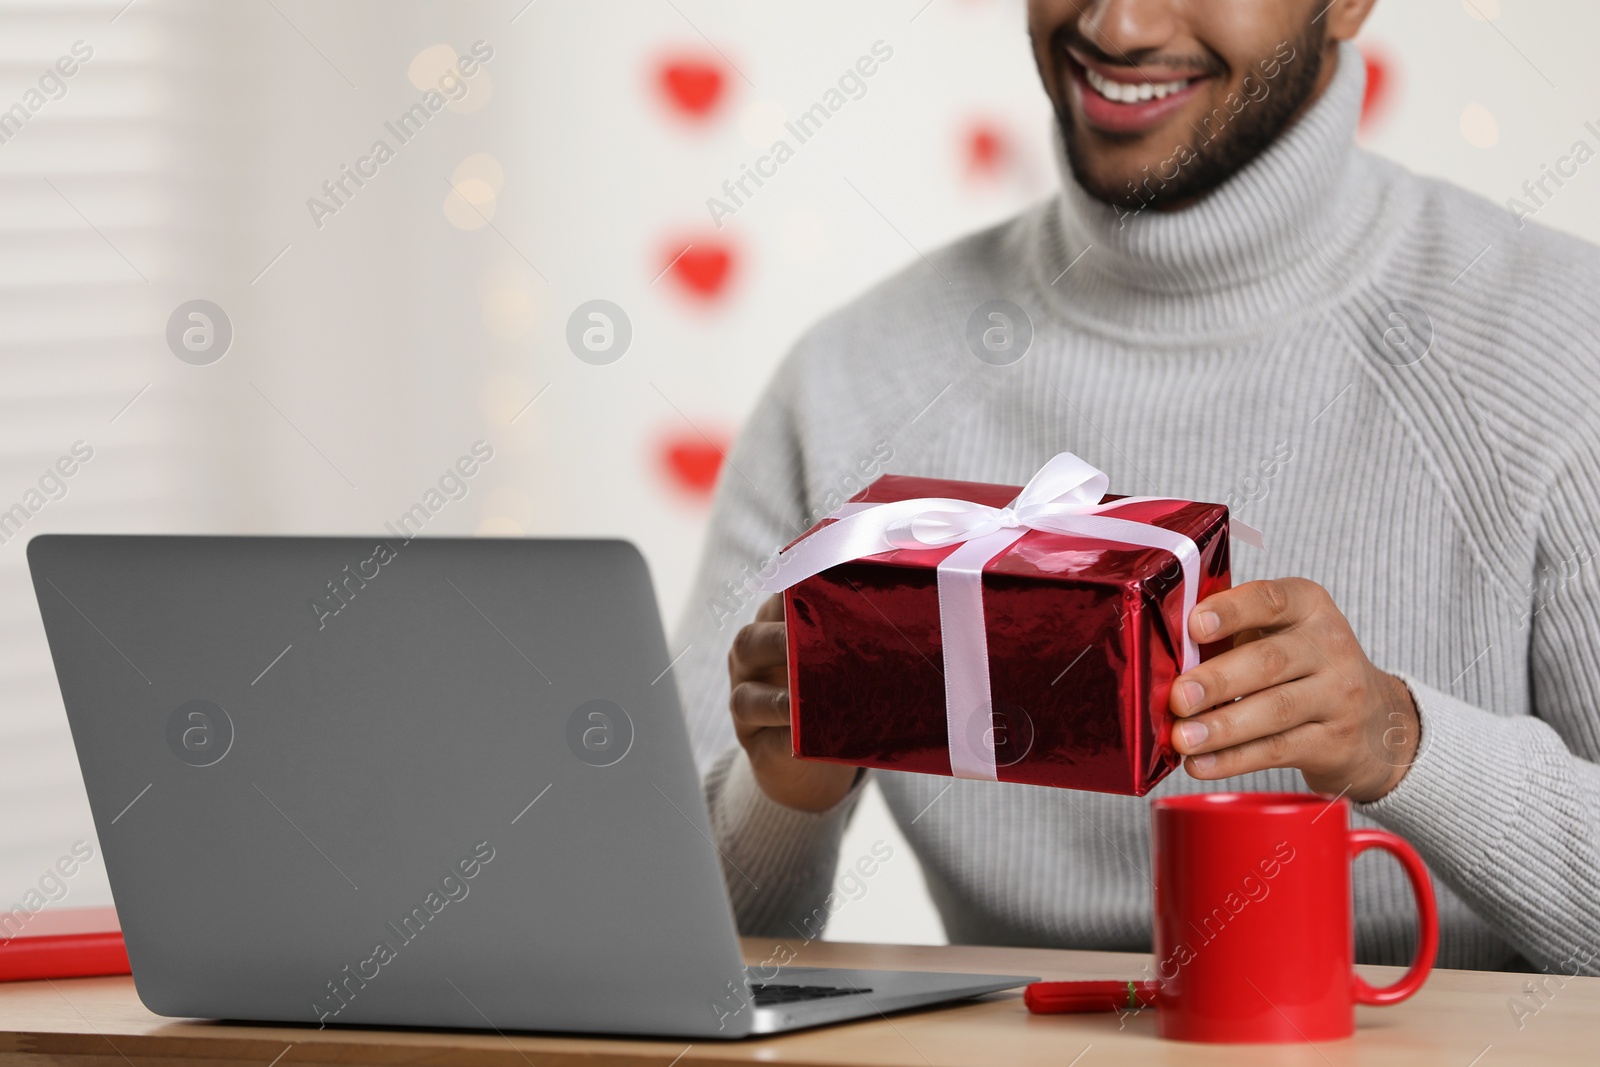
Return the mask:
[[[1379, 0], [1362, 139], [1531, 206], [1600, 150], [1597, 40], [1594, 0]], [[630, 537], [670, 625], [787, 347], [1050, 195], [1050, 123], [1022, 0], [0, 0], [0, 907], [94, 841], [29, 537], [378, 531], [486, 442], [426, 533]], [[1597, 194], [1536, 218], [1600, 240]], [[574, 358], [589, 301], [621, 358]], [[829, 937], [941, 942], [869, 795], [877, 840]], [[110, 902], [98, 859], [50, 896]]]

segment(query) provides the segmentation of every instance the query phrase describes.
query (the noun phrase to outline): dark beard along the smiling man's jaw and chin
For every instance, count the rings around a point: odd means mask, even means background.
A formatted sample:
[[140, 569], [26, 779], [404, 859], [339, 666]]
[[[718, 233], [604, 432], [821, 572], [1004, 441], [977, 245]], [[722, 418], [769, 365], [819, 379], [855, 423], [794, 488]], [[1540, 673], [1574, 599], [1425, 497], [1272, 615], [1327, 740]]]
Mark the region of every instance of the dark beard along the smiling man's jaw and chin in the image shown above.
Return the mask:
[[[1251, 88], [1251, 82], [1262, 85], [1267, 88], [1264, 96], [1251, 99], [1238, 93], [1243, 107], [1234, 114], [1222, 106], [1219, 110], [1226, 122], [1221, 130], [1206, 130], [1205, 122], [1211, 115], [1203, 117], [1202, 128], [1195, 131], [1192, 141], [1174, 144], [1166, 158], [1146, 168], [1138, 178], [1117, 179], [1115, 186], [1101, 181], [1090, 170], [1091, 149], [1083, 146], [1072, 109], [1064, 104], [1056, 112], [1056, 122], [1061, 125], [1061, 139], [1067, 149], [1072, 178], [1093, 198], [1123, 208], [1160, 210], [1211, 192], [1277, 141], [1278, 134], [1310, 99], [1322, 75], [1325, 40], [1326, 30], [1315, 22], [1307, 22], [1299, 38], [1293, 42], [1294, 59], [1280, 66], [1275, 83], [1254, 69], [1246, 74], [1246, 83], [1242, 88]], [[1166, 174], [1171, 163], [1179, 162], [1178, 157], [1184, 154], [1184, 149], [1187, 149], [1189, 158], [1181, 162], [1176, 174]]]

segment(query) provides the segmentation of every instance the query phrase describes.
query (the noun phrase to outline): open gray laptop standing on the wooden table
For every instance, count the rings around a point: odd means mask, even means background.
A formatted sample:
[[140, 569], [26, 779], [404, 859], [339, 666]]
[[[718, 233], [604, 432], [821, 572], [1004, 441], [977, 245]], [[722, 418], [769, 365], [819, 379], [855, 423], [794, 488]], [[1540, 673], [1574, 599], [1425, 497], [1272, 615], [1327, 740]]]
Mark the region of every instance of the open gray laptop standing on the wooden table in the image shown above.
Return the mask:
[[701, 1040], [1034, 981], [805, 966], [816, 923], [744, 966], [632, 544], [46, 534], [27, 558], [157, 1014]]

